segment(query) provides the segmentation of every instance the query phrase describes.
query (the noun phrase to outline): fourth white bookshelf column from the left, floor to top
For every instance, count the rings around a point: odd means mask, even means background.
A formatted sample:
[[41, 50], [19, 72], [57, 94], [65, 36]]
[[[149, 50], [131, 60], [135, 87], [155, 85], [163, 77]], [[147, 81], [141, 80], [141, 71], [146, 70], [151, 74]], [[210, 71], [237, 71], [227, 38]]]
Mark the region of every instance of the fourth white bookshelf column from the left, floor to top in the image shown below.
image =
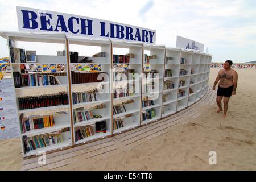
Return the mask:
[[165, 48], [145, 45], [143, 52], [142, 125], [161, 118]]

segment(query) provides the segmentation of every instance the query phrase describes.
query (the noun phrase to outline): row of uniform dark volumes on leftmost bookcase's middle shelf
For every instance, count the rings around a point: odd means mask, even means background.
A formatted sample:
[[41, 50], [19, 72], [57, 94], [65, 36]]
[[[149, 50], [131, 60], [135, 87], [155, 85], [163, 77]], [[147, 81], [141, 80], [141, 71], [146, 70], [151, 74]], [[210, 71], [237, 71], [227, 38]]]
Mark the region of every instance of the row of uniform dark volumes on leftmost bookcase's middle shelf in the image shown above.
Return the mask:
[[43, 96], [20, 97], [19, 109], [35, 109], [40, 107], [51, 107], [68, 104], [68, 93], [48, 94]]

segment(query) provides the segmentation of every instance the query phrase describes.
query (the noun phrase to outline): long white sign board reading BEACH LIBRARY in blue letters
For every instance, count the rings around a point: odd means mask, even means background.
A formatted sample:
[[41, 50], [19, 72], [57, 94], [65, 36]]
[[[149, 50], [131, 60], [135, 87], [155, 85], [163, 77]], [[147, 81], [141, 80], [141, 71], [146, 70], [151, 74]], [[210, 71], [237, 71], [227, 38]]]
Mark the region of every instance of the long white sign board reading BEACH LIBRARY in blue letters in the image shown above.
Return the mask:
[[129, 24], [17, 6], [19, 31], [66, 32], [73, 36], [155, 44], [156, 31]]

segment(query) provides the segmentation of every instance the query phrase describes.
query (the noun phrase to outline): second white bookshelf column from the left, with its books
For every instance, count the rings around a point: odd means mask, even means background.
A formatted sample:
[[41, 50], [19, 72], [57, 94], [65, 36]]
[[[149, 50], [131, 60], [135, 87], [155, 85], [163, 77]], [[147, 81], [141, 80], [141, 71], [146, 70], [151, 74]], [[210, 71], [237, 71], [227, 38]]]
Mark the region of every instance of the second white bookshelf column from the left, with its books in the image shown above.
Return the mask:
[[[109, 40], [92, 40], [75, 36], [67, 36], [67, 40], [69, 45], [68, 55], [70, 55], [69, 60], [71, 62], [71, 92], [73, 95], [73, 134], [75, 139], [73, 142], [80, 144], [110, 136], [112, 134], [110, 114], [112, 112], [110, 94], [111, 43]], [[86, 50], [95, 50], [94, 54], [96, 56], [86, 55]], [[72, 59], [71, 52], [77, 52], [77, 59]], [[86, 59], [84, 60], [84, 58]], [[95, 74], [96, 76], [93, 76]], [[100, 74], [102, 76], [97, 76]], [[81, 77], [78, 78], [80, 75]], [[96, 100], [74, 101], [77, 93], [86, 94], [94, 89], [97, 89], [96, 93], [98, 92]], [[94, 98], [94, 94], [92, 97]], [[100, 126], [102, 123], [105, 123], [105, 128], [102, 129], [104, 131], [97, 130], [96, 126]]]

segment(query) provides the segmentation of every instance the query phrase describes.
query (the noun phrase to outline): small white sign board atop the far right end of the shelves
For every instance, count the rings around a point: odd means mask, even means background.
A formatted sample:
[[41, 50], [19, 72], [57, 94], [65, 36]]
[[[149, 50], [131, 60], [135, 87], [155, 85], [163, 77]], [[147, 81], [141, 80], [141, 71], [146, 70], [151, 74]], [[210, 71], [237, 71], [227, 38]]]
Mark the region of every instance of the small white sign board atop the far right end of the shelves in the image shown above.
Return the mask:
[[192, 49], [204, 52], [204, 44], [196, 42], [195, 40], [183, 38], [182, 36], [177, 36], [176, 48]]

